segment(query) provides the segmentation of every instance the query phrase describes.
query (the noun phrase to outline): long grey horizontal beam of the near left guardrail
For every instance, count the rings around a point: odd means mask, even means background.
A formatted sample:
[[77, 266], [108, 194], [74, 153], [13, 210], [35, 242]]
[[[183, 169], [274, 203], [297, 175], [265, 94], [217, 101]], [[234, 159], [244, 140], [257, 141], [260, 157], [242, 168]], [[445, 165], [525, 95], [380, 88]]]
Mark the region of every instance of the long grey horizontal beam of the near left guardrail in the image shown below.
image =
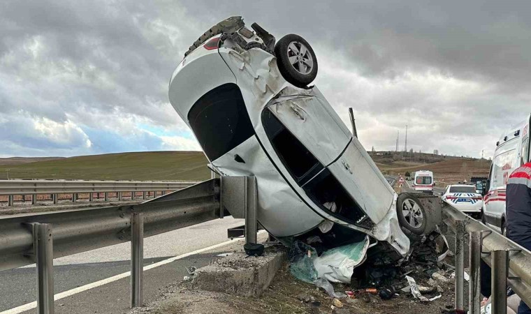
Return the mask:
[[54, 227], [54, 257], [131, 241], [131, 214], [144, 214], [150, 237], [218, 218], [219, 179], [168, 193], [142, 204], [0, 216], [0, 271], [33, 264], [28, 221]]

